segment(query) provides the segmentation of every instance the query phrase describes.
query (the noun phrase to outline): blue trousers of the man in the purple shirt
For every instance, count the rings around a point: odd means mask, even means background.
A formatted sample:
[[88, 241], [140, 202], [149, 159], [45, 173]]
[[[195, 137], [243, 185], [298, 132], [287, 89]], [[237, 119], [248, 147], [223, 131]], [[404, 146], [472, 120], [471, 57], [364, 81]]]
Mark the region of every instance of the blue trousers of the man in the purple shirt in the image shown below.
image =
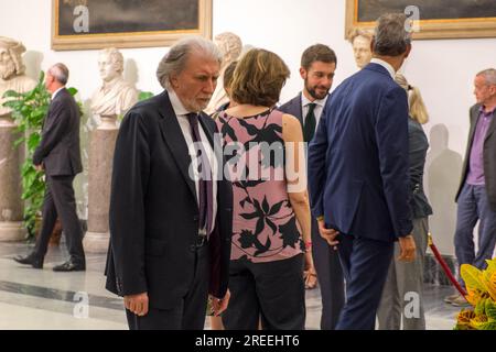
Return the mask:
[[[455, 254], [459, 265], [472, 264], [481, 270], [493, 257], [496, 244], [496, 211], [490, 209], [484, 185], [465, 184], [459, 196]], [[474, 228], [478, 224], [478, 251], [475, 253]], [[464, 285], [463, 279], [460, 283]]]

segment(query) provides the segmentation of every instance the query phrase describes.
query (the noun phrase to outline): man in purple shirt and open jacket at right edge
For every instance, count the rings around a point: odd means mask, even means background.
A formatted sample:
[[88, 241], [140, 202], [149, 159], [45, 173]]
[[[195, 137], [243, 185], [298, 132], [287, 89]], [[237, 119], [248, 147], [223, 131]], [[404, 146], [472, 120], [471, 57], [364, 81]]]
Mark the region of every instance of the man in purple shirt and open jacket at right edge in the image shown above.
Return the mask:
[[[493, 257], [496, 243], [496, 69], [475, 76], [477, 103], [471, 108], [471, 129], [456, 193], [457, 217], [454, 237], [459, 265], [472, 264], [479, 270]], [[478, 251], [475, 253], [474, 228], [478, 226]], [[465, 283], [460, 278], [460, 283]], [[455, 306], [466, 305], [460, 294], [445, 298]]]

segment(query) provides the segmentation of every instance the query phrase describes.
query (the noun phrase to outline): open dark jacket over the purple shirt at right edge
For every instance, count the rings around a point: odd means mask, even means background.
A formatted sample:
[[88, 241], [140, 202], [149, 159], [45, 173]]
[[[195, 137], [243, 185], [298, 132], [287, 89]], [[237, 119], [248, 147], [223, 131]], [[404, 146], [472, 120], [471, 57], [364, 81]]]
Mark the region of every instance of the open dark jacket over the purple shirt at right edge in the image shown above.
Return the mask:
[[[475, 128], [479, 118], [478, 109], [481, 105], [475, 105], [471, 108], [471, 129], [468, 131], [468, 143], [466, 144], [465, 160], [462, 168], [462, 179], [460, 183], [459, 191], [456, 193], [455, 201], [459, 200], [459, 196], [465, 184], [466, 176], [468, 175], [470, 156], [472, 150], [472, 143], [474, 142]], [[490, 209], [496, 211], [496, 111], [493, 114], [493, 121], [487, 130], [486, 138], [484, 140], [484, 178], [486, 180], [487, 198], [489, 200]]]

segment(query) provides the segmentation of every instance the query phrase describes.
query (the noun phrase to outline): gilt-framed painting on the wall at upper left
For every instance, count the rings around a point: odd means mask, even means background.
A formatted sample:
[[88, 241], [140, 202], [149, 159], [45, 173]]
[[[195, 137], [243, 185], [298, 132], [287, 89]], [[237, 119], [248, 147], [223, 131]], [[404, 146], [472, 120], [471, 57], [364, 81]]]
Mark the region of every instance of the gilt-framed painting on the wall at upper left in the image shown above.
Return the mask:
[[212, 38], [213, 0], [52, 0], [54, 51], [171, 46]]

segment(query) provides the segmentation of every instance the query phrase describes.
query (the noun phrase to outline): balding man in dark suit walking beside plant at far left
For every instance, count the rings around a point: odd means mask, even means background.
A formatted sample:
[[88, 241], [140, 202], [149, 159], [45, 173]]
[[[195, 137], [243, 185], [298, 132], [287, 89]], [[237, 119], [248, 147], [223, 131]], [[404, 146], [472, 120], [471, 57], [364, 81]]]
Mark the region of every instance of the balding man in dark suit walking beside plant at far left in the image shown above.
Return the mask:
[[83, 170], [79, 148], [79, 108], [65, 85], [68, 69], [55, 64], [46, 72], [45, 86], [52, 94], [42, 139], [33, 155], [33, 164], [44, 169], [46, 191], [43, 202], [43, 223], [34, 251], [15, 257], [21, 264], [43, 267], [43, 260], [57, 217], [66, 237], [69, 260], [53, 267], [55, 272], [84, 271], [83, 231], [76, 212], [74, 177]]

